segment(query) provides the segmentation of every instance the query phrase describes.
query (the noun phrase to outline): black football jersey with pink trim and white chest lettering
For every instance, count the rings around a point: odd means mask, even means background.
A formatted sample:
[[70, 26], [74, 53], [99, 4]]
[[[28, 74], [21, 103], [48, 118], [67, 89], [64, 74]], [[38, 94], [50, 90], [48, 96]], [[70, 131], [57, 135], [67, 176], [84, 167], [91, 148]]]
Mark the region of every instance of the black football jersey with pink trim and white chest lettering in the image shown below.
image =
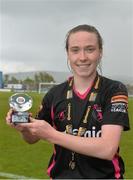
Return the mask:
[[[38, 113], [38, 119], [46, 120], [63, 133], [66, 132], [67, 123], [67, 90], [68, 81], [53, 87], [45, 95]], [[87, 99], [89, 93], [89, 88], [83, 95], [73, 88], [73, 135], [77, 135], [80, 122], [89, 103]], [[84, 137], [100, 137], [101, 127], [105, 124], [121, 125], [124, 130], [129, 130], [127, 108], [128, 95], [126, 87], [121, 82], [100, 76], [98, 95], [93, 104]], [[71, 151], [55, 145], [47, 170], [49, 176], [59, 179], [123, 178], [124, 163], [119, 151], [116, 152], [113, 160], [104, 160], [77, 153], [75, 156], [76, 168], [71, 170], [69, 168]]]

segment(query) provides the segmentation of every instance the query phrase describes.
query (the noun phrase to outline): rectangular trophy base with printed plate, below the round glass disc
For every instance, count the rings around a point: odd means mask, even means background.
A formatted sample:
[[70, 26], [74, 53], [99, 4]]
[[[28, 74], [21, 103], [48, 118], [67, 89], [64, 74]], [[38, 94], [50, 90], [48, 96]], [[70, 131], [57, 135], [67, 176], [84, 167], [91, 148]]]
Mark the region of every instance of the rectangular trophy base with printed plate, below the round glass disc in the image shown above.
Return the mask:
[[28, 112], [14, 112], [12, 115], [12, 123], [28, 123], [29, 113]]

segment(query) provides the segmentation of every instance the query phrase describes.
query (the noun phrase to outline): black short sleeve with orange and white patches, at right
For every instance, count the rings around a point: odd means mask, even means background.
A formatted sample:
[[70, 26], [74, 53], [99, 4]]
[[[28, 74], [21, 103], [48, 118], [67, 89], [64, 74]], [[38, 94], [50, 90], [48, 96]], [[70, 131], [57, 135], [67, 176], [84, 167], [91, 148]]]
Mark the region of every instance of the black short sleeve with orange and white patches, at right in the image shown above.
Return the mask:
[[113, 82], [104, 99], [102, 125], [116, 124], [123, 126], [124, 130], [129, 130], [128, 93], [125, 85]]

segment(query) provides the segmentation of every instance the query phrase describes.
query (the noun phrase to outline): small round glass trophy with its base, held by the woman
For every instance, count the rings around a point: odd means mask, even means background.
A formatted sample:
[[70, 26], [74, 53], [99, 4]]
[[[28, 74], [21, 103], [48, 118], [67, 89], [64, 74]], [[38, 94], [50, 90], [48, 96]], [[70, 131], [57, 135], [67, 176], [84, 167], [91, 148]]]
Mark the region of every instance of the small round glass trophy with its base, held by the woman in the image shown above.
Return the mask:
[[25, 93], [13, 94], [9, 99], [9, 105], [13, 108], [11, 122], [16, 123], [28, 123], [29, 113], [27, 112], [32, 107], [32, 98]]

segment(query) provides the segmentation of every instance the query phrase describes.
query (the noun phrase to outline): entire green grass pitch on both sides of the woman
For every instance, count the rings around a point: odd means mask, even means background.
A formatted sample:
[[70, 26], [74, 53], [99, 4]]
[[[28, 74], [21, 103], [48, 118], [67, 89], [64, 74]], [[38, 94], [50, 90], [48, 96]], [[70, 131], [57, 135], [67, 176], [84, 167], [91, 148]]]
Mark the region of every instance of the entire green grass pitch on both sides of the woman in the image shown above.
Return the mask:
[[[35, 115], [42, 95], [31, 93], [34, 104], [31, 109]], [[11, 173], [37, 179], [48, 178], [46, 174], [52, 145], [40, 141], [29, 145], [25, 143], [16, 130], [5, 123], [6, 113], [9, 109], [8, 99], [11, 93], [0, 92], [0, 173]], [[131, 128], [133, 127], [133, 98], [129, 99], [129, 116]], [[126, 165], [125, 177], [133, 178], [133, 131], [124, 132], [121, 141], [121, 151]], [[2, 174], [2, 173], [1, 173]], [[4, 175], [0, 179], [6, 179]]]

